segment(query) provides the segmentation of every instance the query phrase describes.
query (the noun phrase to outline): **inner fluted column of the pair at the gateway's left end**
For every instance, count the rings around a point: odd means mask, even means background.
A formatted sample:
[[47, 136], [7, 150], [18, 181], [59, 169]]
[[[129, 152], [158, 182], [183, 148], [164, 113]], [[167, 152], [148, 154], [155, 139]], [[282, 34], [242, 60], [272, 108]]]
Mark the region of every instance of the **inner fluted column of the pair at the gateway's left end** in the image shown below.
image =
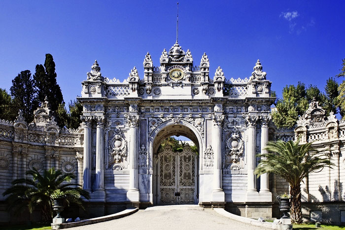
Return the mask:
[[97, 119], [96, 141], [96, 190], [104, 190], [104, 117]]

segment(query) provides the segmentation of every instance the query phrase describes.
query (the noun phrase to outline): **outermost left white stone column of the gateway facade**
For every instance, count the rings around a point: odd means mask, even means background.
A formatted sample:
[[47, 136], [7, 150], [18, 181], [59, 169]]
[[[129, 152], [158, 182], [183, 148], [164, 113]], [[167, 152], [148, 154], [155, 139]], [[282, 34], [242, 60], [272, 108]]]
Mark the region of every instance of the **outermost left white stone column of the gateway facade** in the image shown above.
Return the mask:
[[91, 121], [84, 122], [83, 189], [91, 191]]

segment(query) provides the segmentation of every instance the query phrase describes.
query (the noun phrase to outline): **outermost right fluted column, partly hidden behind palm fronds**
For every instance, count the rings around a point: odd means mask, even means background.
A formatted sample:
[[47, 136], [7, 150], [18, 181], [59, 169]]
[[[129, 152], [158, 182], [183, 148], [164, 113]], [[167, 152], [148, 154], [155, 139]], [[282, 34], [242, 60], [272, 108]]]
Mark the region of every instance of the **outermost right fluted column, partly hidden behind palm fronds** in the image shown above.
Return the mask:
[[[268, 122], [270, 117], [262, 117], [261, 119], [261, 154], [267, 154], [268, 151], [265, 149], [268, 142]], [[261, 160], [266, 160], [265, 157], [261, 157]], [[269, 193], [269, 180], [268, 173], [264, 173], [260, 176], [260, 193]]]

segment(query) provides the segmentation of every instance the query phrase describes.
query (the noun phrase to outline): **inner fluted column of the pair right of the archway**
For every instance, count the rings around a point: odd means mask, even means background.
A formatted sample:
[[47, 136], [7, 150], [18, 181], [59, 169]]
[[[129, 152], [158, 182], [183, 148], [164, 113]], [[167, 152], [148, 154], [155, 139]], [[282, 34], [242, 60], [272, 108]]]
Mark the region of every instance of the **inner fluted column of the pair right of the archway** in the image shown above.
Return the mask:
[[247, 128], [247, 193], [256, 193], [256, 178], [254, 175], [254, 170], [256, 167], [256, 156], [255, 156], [255, 130], [256, 130], [256, 121], [257, 117], [247, 117], [248, 128]]

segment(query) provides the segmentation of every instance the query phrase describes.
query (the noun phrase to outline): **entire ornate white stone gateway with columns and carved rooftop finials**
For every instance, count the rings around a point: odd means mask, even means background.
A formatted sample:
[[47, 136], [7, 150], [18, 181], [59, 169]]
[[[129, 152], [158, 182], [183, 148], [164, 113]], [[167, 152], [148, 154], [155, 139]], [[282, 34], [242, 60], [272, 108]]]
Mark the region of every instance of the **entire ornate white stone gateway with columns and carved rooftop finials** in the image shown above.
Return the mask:
[[[253, 174], [275, 100], [260, 61], [249, 79], [226, 80], [220, 67], [209, 76], [205, 53], [194, 66], [176, 42], [159, 66], [147, 53], [143, 68], [143, 79], [134, 67], [120, 82], [102, 76], [95, 61], [82, 82], [83, 186], [91, 201], [227, 205], [271, 216], [268, 175]], [[171, 135], [189, 137], [199, 153], [158, 153]]]

